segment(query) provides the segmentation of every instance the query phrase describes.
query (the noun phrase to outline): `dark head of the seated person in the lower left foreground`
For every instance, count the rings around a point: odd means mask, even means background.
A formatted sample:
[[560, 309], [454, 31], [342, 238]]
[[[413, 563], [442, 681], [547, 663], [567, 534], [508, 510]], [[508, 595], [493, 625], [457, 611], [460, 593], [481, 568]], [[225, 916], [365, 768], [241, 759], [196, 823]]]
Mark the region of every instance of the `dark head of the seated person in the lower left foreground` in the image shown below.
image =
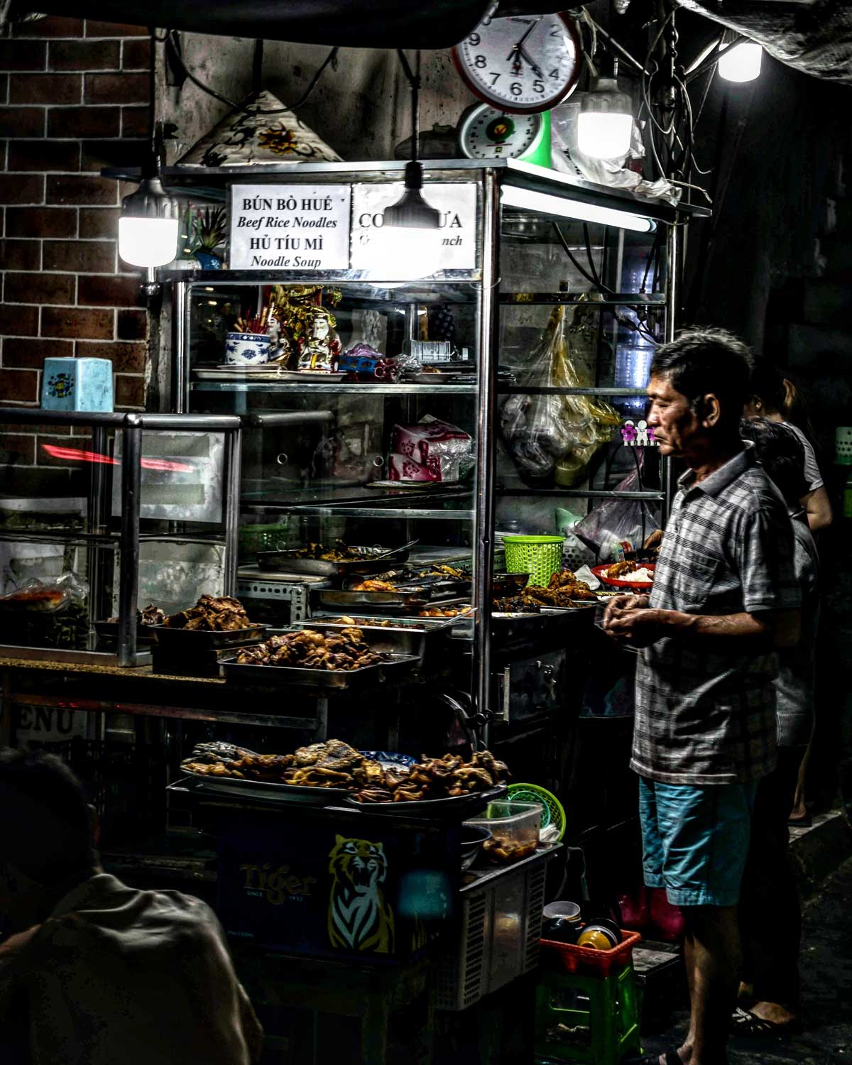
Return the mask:
[[0, 751], [0, 917], [15, 928], [44, 920], [96, 869], [93, 810], [52, 755]]

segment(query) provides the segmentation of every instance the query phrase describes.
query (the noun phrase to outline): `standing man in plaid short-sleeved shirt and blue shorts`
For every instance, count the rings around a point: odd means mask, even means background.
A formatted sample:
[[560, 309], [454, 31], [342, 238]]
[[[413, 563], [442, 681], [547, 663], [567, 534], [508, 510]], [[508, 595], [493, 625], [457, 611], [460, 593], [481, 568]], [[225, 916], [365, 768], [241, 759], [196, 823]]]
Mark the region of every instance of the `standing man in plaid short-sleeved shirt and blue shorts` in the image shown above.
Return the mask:
[[[750, 356], [719, 329], [658, 348], [648, 423], [679, 480], [651, 595], [605, 628], [641, 648], [630, 767], [645, 884], [686, 921], [690, 1028], [663, 1065], [721, 1065], [740, 967], [736, 907], [757, 781], [775, 765], [776, 649], [799, 638], [787, 508], [739, 436]], [[656, 1059], [654, 1059], [656, 1062]]]

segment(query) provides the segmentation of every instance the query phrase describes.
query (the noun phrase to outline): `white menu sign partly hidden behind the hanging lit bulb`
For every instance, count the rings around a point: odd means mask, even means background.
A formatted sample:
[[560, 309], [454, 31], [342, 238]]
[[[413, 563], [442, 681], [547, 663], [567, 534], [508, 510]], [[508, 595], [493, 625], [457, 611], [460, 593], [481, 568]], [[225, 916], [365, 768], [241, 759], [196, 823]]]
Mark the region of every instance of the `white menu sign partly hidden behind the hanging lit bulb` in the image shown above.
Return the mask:
[[[353, 269], [375, 266], [372, 246], [381, 233], [384, 209], [403, 195], [403, 183], [359, 184], [353, 190]], [[423, 198], [440, 213], [441, 269], [476, 268], [476, 184], [427, 183]]]

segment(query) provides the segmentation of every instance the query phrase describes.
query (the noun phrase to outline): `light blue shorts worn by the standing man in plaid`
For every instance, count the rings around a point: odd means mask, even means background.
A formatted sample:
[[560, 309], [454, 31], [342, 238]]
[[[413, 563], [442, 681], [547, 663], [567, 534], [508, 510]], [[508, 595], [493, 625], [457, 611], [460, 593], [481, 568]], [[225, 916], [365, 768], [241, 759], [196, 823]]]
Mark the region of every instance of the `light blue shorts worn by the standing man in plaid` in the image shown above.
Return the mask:
[[735, 906], [756, 791], [756, 782], [692, 787], [640, 776], [648, 887], [665, 887], [674, 906]]

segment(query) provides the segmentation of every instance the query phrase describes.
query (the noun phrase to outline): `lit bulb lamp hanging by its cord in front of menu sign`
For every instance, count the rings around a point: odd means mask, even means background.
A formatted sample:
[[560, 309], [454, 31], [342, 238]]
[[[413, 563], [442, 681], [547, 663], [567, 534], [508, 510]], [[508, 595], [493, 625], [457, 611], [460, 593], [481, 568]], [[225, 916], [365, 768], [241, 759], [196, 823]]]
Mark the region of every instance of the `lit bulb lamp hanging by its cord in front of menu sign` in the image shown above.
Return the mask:
[[398, 54], [411, 86], [411, 161], [406, 164], [405, 192], [384, 209], [380, 239], [375, 242], [374, 269], [389, 281], [428, 277], [441, 263], [441, 213], [423, 198], [423, 164], [417, 159], [420, 53], [416, 75], [402, 49]]

